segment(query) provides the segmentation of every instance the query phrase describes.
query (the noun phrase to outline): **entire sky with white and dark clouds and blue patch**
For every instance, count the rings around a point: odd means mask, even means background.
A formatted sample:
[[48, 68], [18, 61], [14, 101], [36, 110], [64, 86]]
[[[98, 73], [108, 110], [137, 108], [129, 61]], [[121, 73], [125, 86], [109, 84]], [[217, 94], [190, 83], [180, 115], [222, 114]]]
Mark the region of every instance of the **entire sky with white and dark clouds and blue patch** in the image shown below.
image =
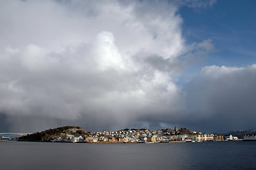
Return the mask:
[[0, 3], [0, 132], [256, 128], [255, 1]]

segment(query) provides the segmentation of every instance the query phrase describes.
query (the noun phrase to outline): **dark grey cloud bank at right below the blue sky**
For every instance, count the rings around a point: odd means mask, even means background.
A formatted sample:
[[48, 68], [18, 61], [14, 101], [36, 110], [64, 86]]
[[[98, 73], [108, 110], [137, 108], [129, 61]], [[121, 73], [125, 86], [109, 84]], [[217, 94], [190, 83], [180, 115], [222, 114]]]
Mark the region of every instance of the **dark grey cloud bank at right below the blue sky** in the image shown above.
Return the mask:
[[216, 131], [254, 128], [255, 68], [204, 67], [184, 89], [191, 122]]

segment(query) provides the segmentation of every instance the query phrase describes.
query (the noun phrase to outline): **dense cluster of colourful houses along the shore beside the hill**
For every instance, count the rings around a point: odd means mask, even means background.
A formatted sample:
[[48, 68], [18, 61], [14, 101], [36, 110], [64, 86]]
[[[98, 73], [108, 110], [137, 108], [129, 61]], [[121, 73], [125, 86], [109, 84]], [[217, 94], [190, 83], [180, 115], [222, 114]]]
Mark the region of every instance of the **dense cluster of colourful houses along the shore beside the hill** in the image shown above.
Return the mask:
[[115, 132], [94, 132], [91, 135], [75, 136], [68, 135], [57, 137], [52, 142], [206, 142], [225, 140], [224, 136], [191, 132], [185, 128], [178, 130], [162, 129], [125, 129]]

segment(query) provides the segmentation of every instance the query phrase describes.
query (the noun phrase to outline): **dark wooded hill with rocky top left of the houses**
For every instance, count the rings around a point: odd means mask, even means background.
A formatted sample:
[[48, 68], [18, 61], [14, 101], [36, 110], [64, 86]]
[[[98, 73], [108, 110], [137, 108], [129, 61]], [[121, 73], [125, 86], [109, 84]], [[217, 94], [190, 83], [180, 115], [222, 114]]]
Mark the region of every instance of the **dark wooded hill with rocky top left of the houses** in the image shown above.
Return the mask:
[[69, 135], [88, 135], [87, 130], [83, 130], [80, 127], [75, 126], [64, 126], [55, 129], [49, 129], [42, 132], [35, 132], [30, 135], [22, 136], [18, 141], [28, 141], [28, 142], [50, 142], [50, 140], [56, 137], [62, 137], [65, 139], [66, 134]]

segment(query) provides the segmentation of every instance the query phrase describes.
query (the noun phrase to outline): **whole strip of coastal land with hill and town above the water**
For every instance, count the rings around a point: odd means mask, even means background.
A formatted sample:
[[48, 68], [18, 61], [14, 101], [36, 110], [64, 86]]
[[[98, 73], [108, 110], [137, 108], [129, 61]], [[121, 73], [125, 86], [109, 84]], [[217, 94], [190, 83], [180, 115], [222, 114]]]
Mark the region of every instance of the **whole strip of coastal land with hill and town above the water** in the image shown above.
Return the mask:
[[215, 135], [213, 133], [195, 132], [186, 128], [166, 128], [161, 130], [123, 129], [118, 131], [87, 132], [79, 127], [66, 126], [23, 135], [9, 137], [0, 135], [1, 141], [18, 140], [29, 142], [84, 142], [84, 143], [160, 143], [160, 142], [209, 142], [232, 140], [256, 140], [256, 135], [249, 134], [243, 138], [233, 135]]

